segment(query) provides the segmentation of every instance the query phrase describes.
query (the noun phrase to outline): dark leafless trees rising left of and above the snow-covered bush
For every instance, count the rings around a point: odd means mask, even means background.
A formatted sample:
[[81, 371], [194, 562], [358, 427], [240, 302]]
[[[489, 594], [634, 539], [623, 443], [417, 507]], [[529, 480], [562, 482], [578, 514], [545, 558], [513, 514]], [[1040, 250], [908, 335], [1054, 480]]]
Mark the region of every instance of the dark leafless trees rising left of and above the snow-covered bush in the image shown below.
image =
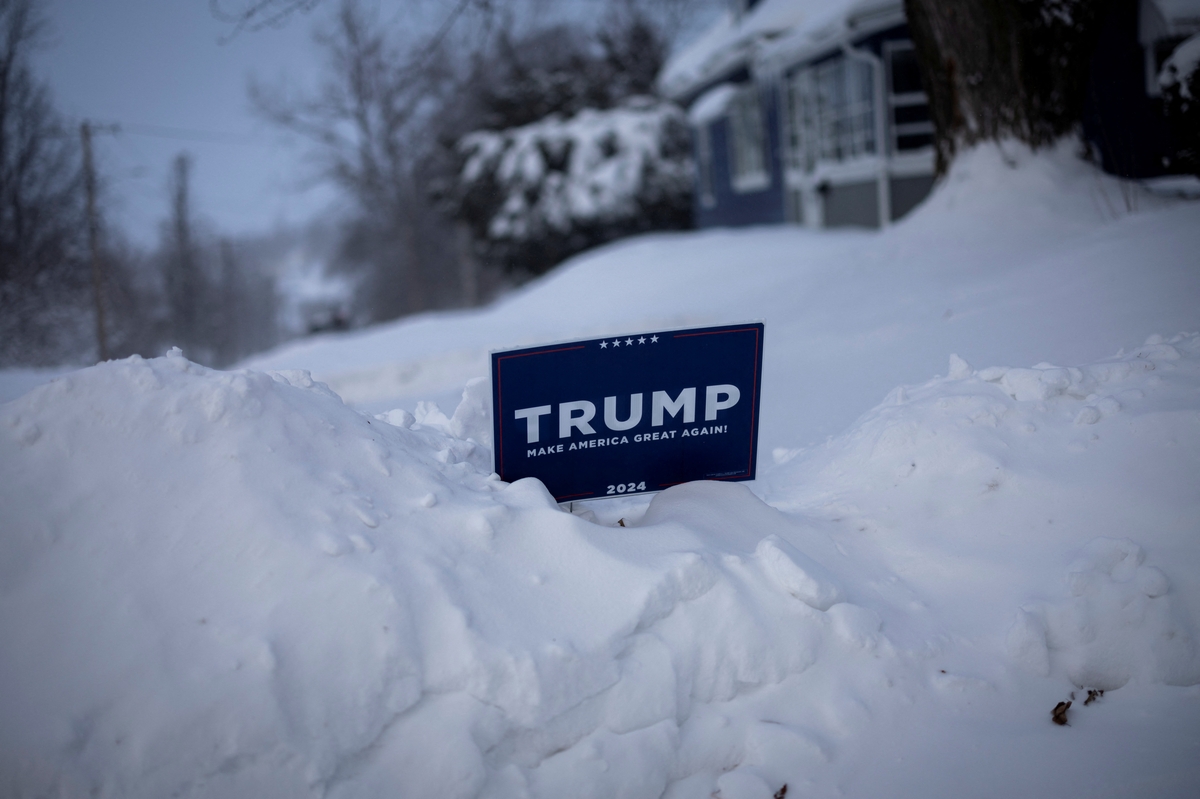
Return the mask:
[[[545, 0], [456, 0], [422, 32], [388, 29], [359, 0], [341, 0], [317, 36], [326, 61], [319, 90], [289, 96], [256, 84], [251, 96], [269, 120], [305, 137], [319, 174], [355, 200], [341, 263], [356, 268], [359, 307], [368, 308], [356, 320], [474, 304], [508, 280], [491, 262], [476, 269], [479, 252], [452, 208], [458, 140], [652, 94], [665, 20], [712, 1], [614, 0], [584, 25], [524, 13], [548, 8]], [[251, 7], [294, 4], [242, 6]]]

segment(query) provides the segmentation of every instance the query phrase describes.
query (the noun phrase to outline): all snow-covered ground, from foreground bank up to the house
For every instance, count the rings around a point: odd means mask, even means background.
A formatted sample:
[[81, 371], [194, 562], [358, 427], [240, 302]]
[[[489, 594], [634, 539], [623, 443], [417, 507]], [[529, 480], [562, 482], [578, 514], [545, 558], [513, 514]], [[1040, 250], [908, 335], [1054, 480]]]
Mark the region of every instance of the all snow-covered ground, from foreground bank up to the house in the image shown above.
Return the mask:
[[[882, 233], [60, 377], [0, 405], [0, 793], [1196, 795], [1198, 300], [1200, 204], [985, 148]], [[490, 474], [488, 349], [748, 319], [757, 481]]]

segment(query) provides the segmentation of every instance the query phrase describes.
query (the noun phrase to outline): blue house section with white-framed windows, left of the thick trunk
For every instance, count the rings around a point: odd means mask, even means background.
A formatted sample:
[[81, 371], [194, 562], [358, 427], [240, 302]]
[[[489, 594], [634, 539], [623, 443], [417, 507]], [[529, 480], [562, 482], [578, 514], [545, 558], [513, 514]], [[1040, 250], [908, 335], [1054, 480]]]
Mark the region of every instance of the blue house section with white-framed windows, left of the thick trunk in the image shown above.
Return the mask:
[[700, 227], [880, 227], [934, 185], [900, 0], [743, 0], [659, 85], [689, 110]]

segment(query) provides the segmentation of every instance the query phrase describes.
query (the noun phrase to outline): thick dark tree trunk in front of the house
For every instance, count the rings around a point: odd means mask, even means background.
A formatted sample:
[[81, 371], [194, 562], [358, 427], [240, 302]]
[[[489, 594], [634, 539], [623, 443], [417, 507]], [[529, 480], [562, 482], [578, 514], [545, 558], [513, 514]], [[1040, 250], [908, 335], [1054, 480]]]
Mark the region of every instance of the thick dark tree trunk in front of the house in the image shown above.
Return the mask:
[[1080, 121], [1111, 0], [905, 0], [934, 118], [937, 172], [960, 146], [1038, 148]]

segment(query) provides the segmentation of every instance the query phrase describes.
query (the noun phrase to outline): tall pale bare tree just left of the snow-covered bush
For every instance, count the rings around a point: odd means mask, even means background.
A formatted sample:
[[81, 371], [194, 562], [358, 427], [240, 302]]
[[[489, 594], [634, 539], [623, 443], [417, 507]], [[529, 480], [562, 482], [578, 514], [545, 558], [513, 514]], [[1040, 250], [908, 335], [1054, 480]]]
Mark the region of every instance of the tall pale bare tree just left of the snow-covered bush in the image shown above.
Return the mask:
[[444, 53], [398, 47], [356, 0], [343, 0], [317, 43], [328, 68], [314, 95], [253, 85], [252, 100], [268, 119], [307, 138], [320, 173], [355, 199], [346, 257], [365, 266], [361, 289], [372, 316], [431, 307], [445, 257], [430, 241], [438, 220], [422, 188], [432, 144], [422, 124], [451, 85]]

